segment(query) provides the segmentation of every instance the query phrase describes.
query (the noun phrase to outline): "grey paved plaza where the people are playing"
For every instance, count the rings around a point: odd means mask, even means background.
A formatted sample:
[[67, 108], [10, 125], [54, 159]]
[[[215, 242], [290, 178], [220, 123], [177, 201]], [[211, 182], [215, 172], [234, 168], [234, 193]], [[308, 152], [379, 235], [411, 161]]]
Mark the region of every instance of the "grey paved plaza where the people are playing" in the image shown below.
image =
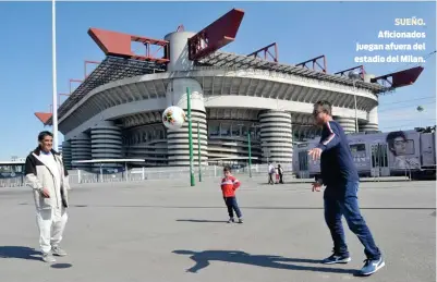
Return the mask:
[[[345, 226], [349, 265], [324, 266], [331, 241], [311, 185], [242, 177], [244, 224], [227, 224], [219, 179], [84, 184], [70, 193], [62, 246], [40, 261], [28, 188], [0, 189], [0, 281], [430, 282], [436, 280], [435, 182], [365, 182], [360, 200], [386, 267], [356, 278], [363, 248]], [[343, 221], [344, 222], [344, 221]]]

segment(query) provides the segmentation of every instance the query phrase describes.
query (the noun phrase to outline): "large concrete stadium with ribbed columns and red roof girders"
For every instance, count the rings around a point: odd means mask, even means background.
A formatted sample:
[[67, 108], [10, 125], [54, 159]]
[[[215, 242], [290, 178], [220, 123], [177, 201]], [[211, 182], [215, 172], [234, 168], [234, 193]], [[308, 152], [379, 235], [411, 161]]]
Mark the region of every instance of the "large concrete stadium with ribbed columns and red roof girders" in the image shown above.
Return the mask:
[[[293, 146], [318, 134], [314, 102], [329, 100], [348, 133], [376, 132], [378, 96], [413, 84], [423, 71], [372, 75], [359, 65], [330, 74], [325, 56], [280, 63], [276, 44], [251, 54], [220, 51], [235, 40], [243, 17], [233, 9], [198, 33], [179, 26], [163, 39], [89, 28], [106, 58], [85, 62], [97, 66], [58, 108], [66, 167], [86, 170], [92, 164], [76, 161], [99, 159], [189, 165], [187, 124], [169, 131], [161, 117], [169, 106], [186, 109], [187, 88], [194, 151], [201, 146], [203, 164], [245, 163], [248, 148], [254, 163], [291, 164]], [[133, 45], [144, 52], [135, 53]], [[50, 112], [35, 115], [52, 125]]]

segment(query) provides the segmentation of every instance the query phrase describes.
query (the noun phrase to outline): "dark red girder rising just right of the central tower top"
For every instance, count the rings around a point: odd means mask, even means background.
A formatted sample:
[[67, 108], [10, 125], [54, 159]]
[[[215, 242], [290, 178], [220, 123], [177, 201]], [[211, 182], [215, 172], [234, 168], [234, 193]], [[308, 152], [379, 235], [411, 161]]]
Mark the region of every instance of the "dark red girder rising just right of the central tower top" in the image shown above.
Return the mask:
[[244, 12], [232, 9], [189, 39], [189, 59], [199, 60], [235, 40]]

